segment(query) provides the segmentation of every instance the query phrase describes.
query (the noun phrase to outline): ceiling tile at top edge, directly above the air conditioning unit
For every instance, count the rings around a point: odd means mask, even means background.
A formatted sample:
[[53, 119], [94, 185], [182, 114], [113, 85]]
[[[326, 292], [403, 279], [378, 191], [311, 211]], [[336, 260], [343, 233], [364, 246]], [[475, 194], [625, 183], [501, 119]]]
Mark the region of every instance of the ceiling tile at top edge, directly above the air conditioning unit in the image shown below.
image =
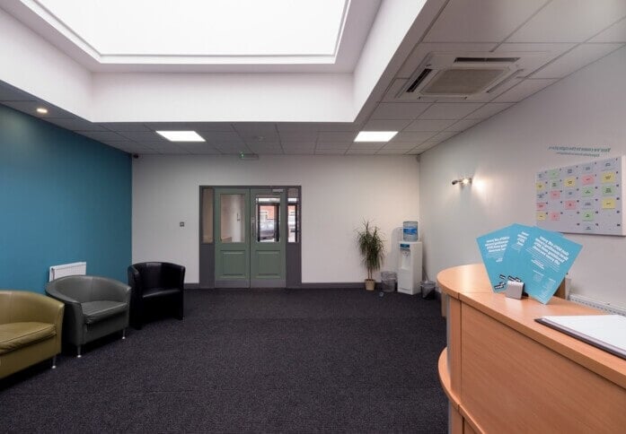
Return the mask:
[[500, 42], [545, 0], [451, 0], [425, 42]]

